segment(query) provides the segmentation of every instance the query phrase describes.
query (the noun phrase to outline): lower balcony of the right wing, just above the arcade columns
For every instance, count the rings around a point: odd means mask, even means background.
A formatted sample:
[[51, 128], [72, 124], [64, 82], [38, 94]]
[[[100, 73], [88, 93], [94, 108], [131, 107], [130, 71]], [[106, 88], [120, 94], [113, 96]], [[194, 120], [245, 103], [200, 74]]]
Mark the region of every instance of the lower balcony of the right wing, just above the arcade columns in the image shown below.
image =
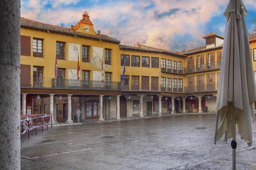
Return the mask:
[[185, 89], [186, 93], [218, 91], [218, 84], [188, 86]]

